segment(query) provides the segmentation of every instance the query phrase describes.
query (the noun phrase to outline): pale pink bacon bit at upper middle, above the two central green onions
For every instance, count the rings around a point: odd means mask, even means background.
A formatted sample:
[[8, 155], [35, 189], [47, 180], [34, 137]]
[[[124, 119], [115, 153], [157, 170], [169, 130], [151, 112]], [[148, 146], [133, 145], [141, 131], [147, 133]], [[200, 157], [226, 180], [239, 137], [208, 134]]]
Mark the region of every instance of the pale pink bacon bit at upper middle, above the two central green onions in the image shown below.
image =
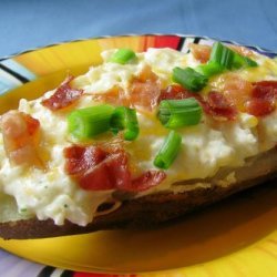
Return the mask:
[[161, 83], [150, 66], [145, 66], [141, 74], [132, 81], [130, 92], [131, 105], [136, 109], [152, 111], [157, 105]]

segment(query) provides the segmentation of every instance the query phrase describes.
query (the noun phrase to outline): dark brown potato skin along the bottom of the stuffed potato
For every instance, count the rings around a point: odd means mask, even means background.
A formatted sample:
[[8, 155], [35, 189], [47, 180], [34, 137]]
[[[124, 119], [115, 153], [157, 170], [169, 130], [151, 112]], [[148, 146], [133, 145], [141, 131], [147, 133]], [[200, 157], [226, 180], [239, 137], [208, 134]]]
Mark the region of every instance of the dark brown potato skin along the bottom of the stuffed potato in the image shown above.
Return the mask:
[[196, 188], [179, 194], [153, 194], [124, 201], [116, 211], [95, 217], [85, 227], [70, 222], [58, 226], [54, 225], [52, 219], [38, 220], [35, 218], [0, 223], [0, 236], [4, 239], [27, 239], [85, 234], [103, 229], [155, 227], [161, 223], [177, 218], [188, 212], [270, 179], [273, 179], [273, 185], [277, 184], [276, 171], [269, 175], [255, 177], [227, 187], [211, 186], [209, 188]]

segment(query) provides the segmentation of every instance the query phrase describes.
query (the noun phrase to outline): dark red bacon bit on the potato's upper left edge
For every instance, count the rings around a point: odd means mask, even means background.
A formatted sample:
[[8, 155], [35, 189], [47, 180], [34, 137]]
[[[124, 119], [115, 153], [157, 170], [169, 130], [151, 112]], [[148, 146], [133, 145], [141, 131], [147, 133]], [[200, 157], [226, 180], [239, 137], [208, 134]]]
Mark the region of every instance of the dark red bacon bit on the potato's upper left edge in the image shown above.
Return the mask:
[[71, 88], [70, 82], [73, 79], [73, 76], [69, 75], [55, 90], [52, 96], [42, 101], [42, 105], [50, 109], [51, 111], [57, 111], [78, 101], [83, 94], [83, 90]]

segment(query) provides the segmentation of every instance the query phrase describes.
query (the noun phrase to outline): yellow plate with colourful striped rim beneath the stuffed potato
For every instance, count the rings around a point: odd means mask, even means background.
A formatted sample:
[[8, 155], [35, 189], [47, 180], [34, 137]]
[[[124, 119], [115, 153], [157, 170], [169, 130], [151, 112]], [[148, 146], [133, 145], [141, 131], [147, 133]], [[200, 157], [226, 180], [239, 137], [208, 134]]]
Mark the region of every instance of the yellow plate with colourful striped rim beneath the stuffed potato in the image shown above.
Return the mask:
[[[16, 107], [20, 98], [32, 99], [53, 89], [68, 71], [80, 74], [90, 64], [100, 63], [102, 50], [171, 47], [186, 51], [189, 42], [199, 40], [211, 43], [195, 37], [138, 35], [75, 41], [21, 53], [1, 61], [0, 113]], [[157, 229], [0, 239], [0, 246], [22, 258], [74, 271], [158, 277], [277, 276], [276, 199], [277, 187], [267, 184]]]

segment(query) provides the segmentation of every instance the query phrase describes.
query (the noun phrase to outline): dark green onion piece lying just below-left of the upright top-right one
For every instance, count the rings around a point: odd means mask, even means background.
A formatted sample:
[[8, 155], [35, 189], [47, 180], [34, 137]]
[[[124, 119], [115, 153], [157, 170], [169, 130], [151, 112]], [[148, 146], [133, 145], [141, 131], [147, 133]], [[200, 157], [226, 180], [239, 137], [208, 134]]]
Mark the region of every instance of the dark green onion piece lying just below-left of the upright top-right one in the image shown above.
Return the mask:
[[208, 79], [192, 68], [174, 68], [173, 81], [192, 92], [197, 92], [207, 84]]

